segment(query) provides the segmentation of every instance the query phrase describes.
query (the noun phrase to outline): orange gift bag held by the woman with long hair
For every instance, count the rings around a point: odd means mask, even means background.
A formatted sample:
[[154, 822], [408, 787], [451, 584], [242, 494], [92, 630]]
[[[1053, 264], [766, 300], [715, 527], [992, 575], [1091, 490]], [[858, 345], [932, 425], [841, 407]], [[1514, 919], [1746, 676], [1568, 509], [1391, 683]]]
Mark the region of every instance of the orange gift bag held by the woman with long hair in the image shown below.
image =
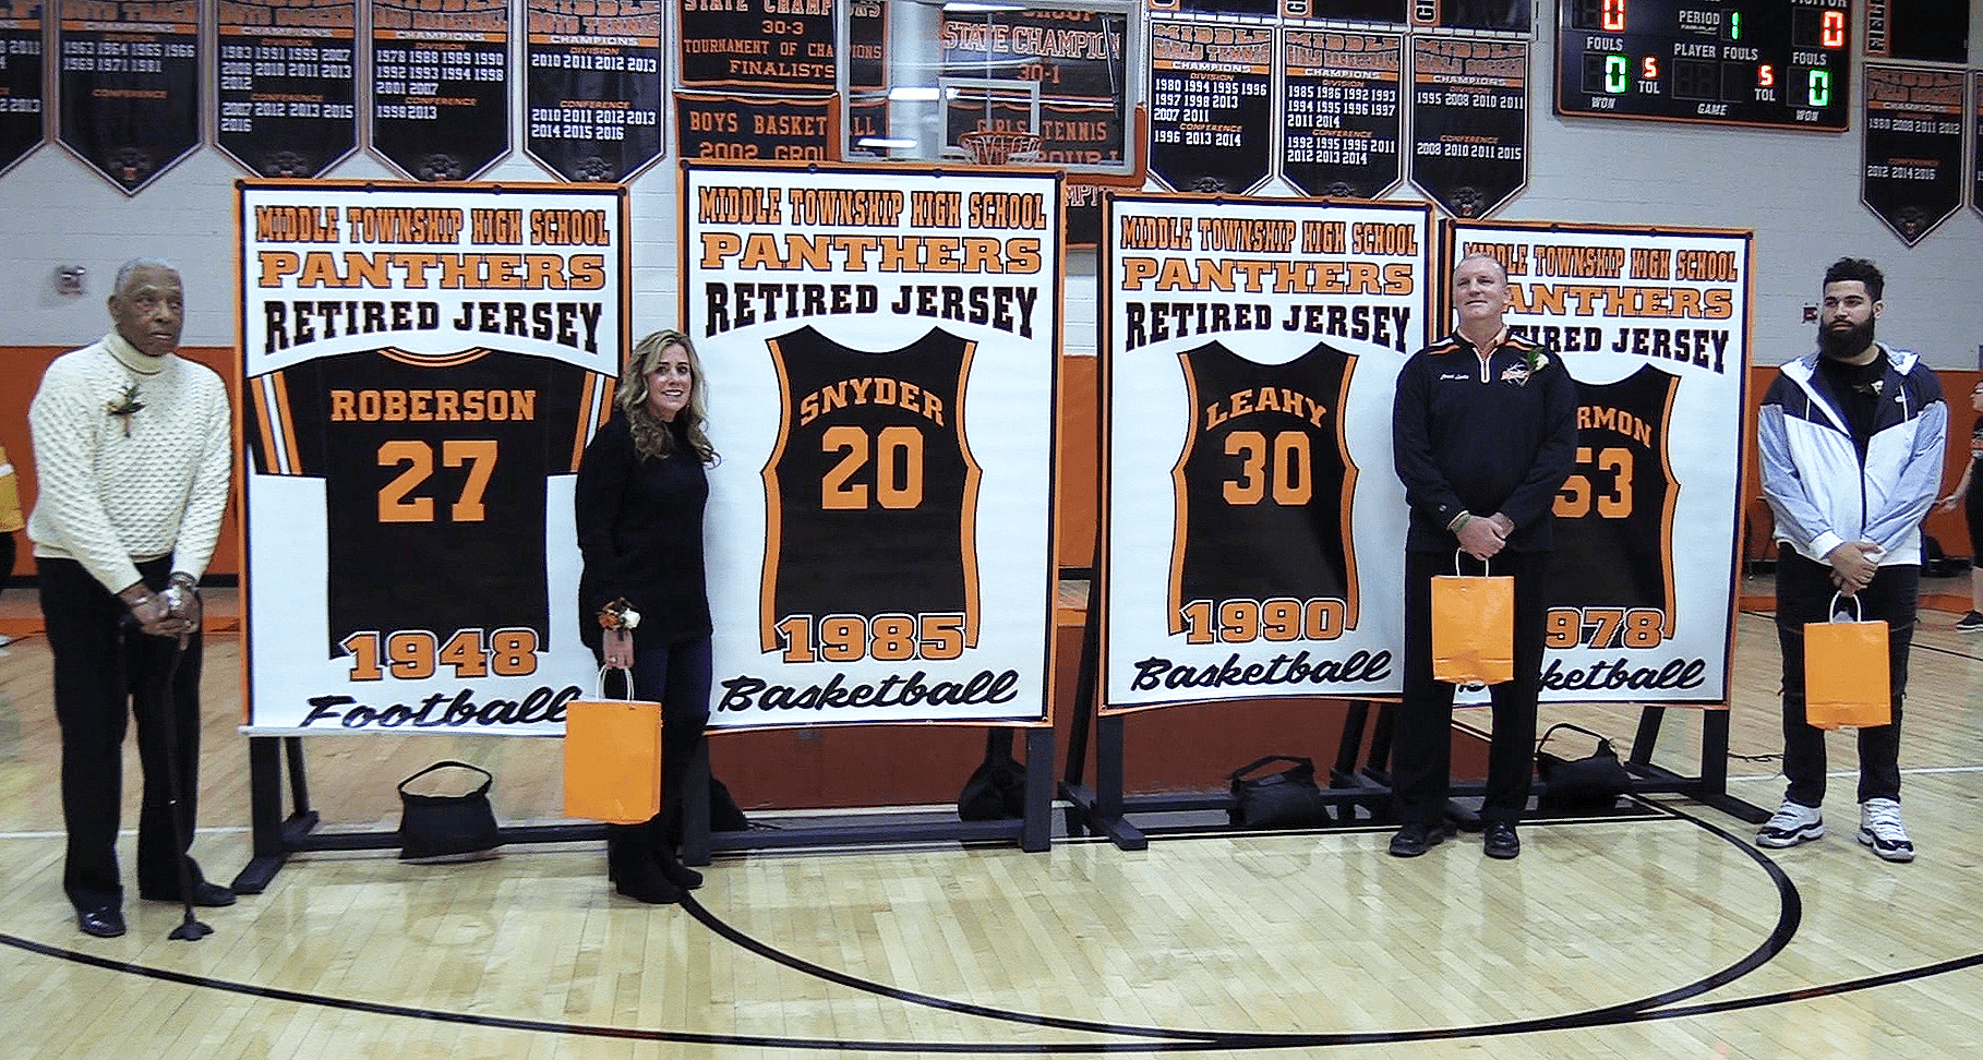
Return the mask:
[[[633, 695], [633, 670], [627, 695]], [[607, 699], [599, 672], [593, 699], [565, 703], [565, 816], [641, 824], [660, 812], [660, 703]]]

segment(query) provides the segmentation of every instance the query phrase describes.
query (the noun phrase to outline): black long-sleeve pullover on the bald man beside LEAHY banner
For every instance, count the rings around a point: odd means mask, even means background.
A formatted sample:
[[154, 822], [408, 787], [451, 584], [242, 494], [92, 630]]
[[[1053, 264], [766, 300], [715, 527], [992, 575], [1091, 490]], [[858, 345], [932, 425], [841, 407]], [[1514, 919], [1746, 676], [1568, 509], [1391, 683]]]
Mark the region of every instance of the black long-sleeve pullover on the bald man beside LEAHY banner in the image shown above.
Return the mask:
[[1481, 363], [1448, 335], [1398, 372], [1392, 454], [1412, 509], [1406, 549], [1452, 551], [1446, 527], [1461, 511], [1499, 511], [1515, 521], [1507, 547], [1549, 551], [1557, 489], [1576, 466], [1576, 380], [1527, 339], [1503, 339]]

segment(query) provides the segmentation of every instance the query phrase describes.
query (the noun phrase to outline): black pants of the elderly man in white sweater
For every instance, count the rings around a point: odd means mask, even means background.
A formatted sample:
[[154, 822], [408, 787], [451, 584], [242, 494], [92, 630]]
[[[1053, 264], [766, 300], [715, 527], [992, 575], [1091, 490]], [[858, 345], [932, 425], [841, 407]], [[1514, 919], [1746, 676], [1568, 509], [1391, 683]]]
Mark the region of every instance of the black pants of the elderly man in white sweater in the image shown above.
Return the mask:
[[[165, 588], [171, 559], [139, 565], [145, 584]], [[145, 769], [145, 798], [137, 818], [139, 894], [178, 898], [178, 858], [192, 848], [200, 765], [200, 654], [194, 634], [178, 640], [147, 636], [125, 622], [129, 610], [81, 563], [36, 559], [42, 618], [56, 656], [56, 721], [61, 725], [61, 816], [67, 822], [67, 862], [61, 890], [77, 909], [119, 905], [117, 820], [123, 808], [125, 723], [137, 713], [137, 755]], [[176, 670], [173, 656], [178, 654]], [[167, 717], [171, 676], [171, 717]], [[171, 735], [171, 745], [167, 737]], [[180, 773], [180, 822], [173, 832], [173, 761]], [[200, 880], [196, 866], [188, 866]]]

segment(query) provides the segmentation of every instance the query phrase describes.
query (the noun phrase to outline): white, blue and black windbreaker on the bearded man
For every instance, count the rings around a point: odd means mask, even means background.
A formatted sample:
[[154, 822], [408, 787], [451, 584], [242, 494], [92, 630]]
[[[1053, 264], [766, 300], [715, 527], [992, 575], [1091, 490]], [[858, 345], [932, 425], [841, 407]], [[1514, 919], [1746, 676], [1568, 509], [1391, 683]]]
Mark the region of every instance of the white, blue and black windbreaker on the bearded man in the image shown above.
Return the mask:
[[1922, 563], [1922, 519], [1941, 483], [1949, 406], [1920, 355], [1886, 343], [1880, 353], [1884, 400], [1864, 464], [1816, 351], [1785, 365], [1763, 396], [1757, 436], [1777, 541], [1816, 563], [1846, 541], [1878, 543], [1882, 567]]

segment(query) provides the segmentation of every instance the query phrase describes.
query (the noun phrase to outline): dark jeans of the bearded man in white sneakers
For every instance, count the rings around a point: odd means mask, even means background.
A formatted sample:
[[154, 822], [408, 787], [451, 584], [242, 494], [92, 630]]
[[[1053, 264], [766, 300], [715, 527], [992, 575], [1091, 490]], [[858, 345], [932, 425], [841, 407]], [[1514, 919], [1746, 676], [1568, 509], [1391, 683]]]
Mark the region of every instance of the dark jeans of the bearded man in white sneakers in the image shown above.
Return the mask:
[[[1908, 648], [1914, 644], [1914, 612], [1920, 602], [1922, 569], [1882, 567], [1872, 584], [1858, 590], [1860, 618], [1886, 618], [1886, 658], [1894, 689], [1894, 723], [1858, 731], [1858, 800], [1900, 798], [1900, 701], [1908, 691]], [[1777, 549], [1777, 642], [1783, 644], [1783, 777], [1791, 781], [1785, 798], [1803, 806], [1824, 802], [1824, 729], [1805, 721], [1805, 622], [1830, 618], [1832, 567], [1812, 563], [1791, 549]]]

